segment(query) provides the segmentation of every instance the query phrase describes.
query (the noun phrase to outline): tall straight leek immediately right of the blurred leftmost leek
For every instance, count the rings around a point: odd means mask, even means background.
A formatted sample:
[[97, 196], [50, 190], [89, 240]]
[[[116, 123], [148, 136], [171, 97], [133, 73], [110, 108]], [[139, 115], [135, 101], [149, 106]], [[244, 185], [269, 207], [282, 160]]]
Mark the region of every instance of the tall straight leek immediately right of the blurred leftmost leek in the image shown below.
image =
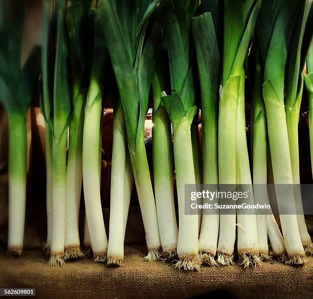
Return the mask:
[[[64, 263], [65, 244], [66, 142], [71, 114], [65, 7], [65, 1], [43, 2], [40, 104], [46, 125], [47, 245], [51, 247], [49, 264], [52, 266]], [[51, 49], [55, 49], [55, 53], [51, 53]]]

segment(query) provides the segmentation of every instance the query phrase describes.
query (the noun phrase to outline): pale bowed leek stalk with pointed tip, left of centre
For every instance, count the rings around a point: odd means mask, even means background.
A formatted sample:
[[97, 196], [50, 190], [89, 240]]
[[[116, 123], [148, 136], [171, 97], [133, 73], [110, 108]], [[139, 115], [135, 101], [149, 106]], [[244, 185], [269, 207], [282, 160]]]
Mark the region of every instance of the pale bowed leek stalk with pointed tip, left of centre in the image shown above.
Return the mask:
[[92, 78], [85, 108], [82, 166], [88, 231], [96, 262], [106, 261], [108, 245], [102, 215], [99, 180], [101, 117], [101, 91], [98, 82]]

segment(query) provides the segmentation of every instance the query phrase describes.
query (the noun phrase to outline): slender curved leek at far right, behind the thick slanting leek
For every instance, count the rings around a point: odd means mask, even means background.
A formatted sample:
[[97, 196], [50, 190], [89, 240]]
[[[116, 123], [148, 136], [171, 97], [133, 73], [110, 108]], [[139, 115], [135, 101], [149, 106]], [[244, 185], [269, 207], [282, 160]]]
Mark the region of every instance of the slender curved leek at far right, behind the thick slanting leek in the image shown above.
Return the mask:
[[[297, 220], [299, 226], [302, 245], [307, 252], [313, 250], [311, 237], [307, 232], [306, 223], [303, 215], [302, 198], [300, 190], [300, 170], [299, 170], [299, 144], [298, 144], [298, 123], [300, 117], [300, 105], [303, 91], [304, 65], [301, 65], [301, 55], [306, 57], [307, 49], [303, 40], [311, 38], [311, 29], [309, 36], [304, 36], [306, 27], [312, 26], [307, 22], [309, 12], [311, 11], [312, 0], [303, 2], [301, 10], [296, 20], [292, 41], [290, 43], [289, 57], [286, 68], [286, 95], [285, 112], [288, 132], [288, 142], [290, 149], [290, 158], [293, 173], [293, 183], [295, 188], [295, 200], [297, 206]], [[303, 39], [305, 38], [305, 39]], [[303, 45], [302, 45], [303, 44]], [[302, 53], [301, 53], [302, 52]], [[303, 53], [304, 52], [304, 53]], [[313, 251], [312, 251], [313, 252]]]

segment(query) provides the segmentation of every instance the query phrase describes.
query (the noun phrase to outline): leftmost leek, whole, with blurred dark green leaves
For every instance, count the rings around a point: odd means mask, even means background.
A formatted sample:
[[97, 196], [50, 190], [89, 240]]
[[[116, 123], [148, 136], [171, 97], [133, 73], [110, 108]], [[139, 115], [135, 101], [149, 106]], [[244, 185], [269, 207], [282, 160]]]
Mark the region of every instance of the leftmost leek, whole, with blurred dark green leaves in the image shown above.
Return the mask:
[[9, 125], [9, 234], [8, 251], [21, 255], [24, 241], [26, 205], [27, 132], [26, 112], [37, 87], [40, 52], [35, 47], [21, 68], [24, 12], [18, 5], [10, 10], [0, 2], [0, 102], [8, 114]]

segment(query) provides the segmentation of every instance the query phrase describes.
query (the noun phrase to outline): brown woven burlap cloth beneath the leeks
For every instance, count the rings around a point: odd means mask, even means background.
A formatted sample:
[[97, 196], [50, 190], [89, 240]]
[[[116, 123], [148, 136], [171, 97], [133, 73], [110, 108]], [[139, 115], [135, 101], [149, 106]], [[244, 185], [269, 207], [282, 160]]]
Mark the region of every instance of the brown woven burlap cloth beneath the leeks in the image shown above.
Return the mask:
[[[313, 298], [313, 258], [305, 267], [275, 260], [261, 267], [242, 269], [202, 267], [199, 271], [176, 270], [162, 262], [145, 262], [143, 224], [138, 207], [131, 207], [125, 236], [124, 266], [109, 268], [91, 259], [48, 266], [40, 250], [46, 238], [44, 209], [27, 205], [23, 255], [6, 255], [7, 177], [0, 176], [0, 288], [36, 288], [37, 298], [191, 298], [212, 290], [225, 290], [238, 299]], [[40, 206], [40, 204], [39, 204]], [[44, 205], [42, 205], [44, 207]], [[104, 210], [106, 227], [109, 211]], [[84, 212], [81, 211], [80, 218]], [[80, 225], [82, 227], [82, 225]], [[308, 228], [312, 223], [308, 221]]]

